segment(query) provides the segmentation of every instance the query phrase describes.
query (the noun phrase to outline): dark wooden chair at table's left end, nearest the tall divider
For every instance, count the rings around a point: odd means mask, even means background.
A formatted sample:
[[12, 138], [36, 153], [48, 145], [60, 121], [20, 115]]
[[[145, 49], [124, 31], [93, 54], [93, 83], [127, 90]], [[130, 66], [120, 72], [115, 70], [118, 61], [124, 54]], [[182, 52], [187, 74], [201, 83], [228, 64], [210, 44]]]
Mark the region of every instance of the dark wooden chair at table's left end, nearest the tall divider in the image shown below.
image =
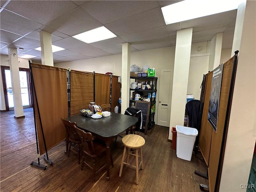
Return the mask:
[[[75, 152], [76, 154], [78, 154], [78, 164], [80, 164], [80, 138], [76, 132], [76, 129], [74, 128], [74, 125], [76, 125], [75, 122], [70, 122], [68, 120], [64, 120], [62, 119], [62, 123], [64, 124], [65, 128], [66, 128], [66, 134], [68, 134], [68, 140], [66, 141], [67, 143], [69, 143], [68, 146], [68, 156], [70, 154], [70, 151]], [[71, 147], [72, 143], [74, 143], [76, 146]]]

